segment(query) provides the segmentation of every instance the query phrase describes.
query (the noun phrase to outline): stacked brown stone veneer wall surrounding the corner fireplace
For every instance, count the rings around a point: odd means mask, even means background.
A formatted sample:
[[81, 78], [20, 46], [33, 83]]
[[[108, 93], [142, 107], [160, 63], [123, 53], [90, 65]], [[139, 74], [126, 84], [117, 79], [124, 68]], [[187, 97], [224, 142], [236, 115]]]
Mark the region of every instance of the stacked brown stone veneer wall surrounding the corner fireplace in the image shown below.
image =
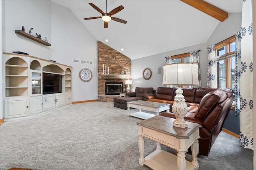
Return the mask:
[[[121, 74], [124, 70], [126, 77], [124, 79], [104, 79], [102, 74], [102, 65], [107, 66], [107, 72], [109, 67], [109, 74]], [[102, 102], [113, 102], [111, 95], [105, 95], [105, 82], [123, 82], [132, 77], [132, 61], [129, 57], [126, 57], [122, 53], [112, 49], [108, 45], [98, 41], [98, 100]], [[130, 85], [131, 87], [131, 85]]]

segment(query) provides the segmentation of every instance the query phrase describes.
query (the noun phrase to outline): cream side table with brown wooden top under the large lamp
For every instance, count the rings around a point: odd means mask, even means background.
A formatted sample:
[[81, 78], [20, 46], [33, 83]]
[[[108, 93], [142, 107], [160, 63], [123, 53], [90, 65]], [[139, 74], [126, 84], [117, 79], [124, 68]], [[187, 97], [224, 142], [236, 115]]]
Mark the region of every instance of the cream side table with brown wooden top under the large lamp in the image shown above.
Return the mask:
[[[170, 117], [155, 116], [137, 122], [139, 126], [139, 151], [140, 166], [146, 165], [153, 170], [194, 170], [199, 167], [196, 156], [198, 155], [199, 128], [197, 123], [187, 122], [188, 127], [179, 128], [173, 126]], [[144, 158], [144, 137], [157, 142], [154, 152]], [[161, 149], [166, 145], [178, 151], [177, 156]], [[192, 146], [192, 162], [185, 159], [185, 153]]]

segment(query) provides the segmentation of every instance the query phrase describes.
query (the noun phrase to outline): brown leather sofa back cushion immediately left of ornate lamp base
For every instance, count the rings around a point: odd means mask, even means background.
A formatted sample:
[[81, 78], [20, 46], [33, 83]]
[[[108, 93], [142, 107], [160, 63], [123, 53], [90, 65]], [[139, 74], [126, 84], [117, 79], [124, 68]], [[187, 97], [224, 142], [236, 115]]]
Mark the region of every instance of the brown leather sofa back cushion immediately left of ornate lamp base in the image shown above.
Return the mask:
[[174, 100], [174, 96], [176, 95], [174, 90], [175, 88], [158, 87], [156, 90], [156, 99]]

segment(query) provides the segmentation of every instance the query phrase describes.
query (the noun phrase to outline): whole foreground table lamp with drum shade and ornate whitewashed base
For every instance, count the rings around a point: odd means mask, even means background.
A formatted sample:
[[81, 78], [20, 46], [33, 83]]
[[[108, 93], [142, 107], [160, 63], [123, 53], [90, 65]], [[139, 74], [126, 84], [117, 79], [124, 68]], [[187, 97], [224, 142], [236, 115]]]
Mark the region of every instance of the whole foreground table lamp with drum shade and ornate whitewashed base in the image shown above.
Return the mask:
[[197, 86], [198, 82], [198, 64], [196, 63], [174, 63], [164, 65], [163, 85], [176, 85], [176, 96], [172, 105], [172, 112], [176, 119], [173, 122], [175, 127], [185, 128], [188, 124], [184, 120], [188, 113], [188, 106], [182, 95], [181, 86]]

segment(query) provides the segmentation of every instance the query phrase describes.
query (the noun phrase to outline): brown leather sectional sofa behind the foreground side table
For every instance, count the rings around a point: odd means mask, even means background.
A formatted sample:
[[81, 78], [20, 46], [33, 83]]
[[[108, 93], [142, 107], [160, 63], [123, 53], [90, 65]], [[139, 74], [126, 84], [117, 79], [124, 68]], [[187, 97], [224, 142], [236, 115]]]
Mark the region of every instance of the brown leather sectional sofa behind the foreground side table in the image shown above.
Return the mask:
[[[218, 88], [182, 88], [188, 106], [186, 121], [200, 124], [199, 155], [208, 156], [218, 137], [224, 119], [234, 101], [233, 90]], [[154, 96], [144, 96], [144, 100], [172, 104], [176, 88], [159, 87]], [[162, 112], [159, 115], [176, 118], [174, 113]]]

